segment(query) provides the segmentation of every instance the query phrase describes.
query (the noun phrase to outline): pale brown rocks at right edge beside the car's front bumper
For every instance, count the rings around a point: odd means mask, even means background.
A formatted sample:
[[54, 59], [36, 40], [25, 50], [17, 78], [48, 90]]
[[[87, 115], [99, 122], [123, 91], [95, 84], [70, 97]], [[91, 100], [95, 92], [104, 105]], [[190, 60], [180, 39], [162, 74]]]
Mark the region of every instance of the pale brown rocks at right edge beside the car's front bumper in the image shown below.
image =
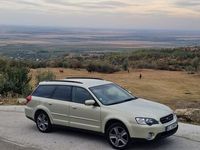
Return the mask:
[[189, 108], [189, 109], [177, 109], [175, 111], [180, 121], [190, 121], [200, 123], [200, 109]]

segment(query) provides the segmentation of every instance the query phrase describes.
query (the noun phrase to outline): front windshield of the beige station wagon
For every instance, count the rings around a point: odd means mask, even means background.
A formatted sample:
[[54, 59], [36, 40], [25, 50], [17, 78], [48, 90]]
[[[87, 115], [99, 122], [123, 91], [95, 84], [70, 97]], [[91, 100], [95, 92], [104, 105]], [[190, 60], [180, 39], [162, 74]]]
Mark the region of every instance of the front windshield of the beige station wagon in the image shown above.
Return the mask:
[[90, 90], [104, 105], [118, 104], [136, 99], [136, 97], [116, 84], [95, 86], [91, 87]]

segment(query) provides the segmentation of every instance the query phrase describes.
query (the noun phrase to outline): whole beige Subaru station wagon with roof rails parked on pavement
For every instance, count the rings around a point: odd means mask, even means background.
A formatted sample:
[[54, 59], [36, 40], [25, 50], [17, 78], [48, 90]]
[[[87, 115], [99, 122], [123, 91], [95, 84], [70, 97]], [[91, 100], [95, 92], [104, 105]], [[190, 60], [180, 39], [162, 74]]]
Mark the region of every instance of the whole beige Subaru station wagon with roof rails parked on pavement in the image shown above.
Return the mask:
[[126, 149], [135, 139], [168, 137], [178, 129], [168, 106], [100, 78], [43, 81], [26, 99], [25, 115], [39, 131], [50, 132], [54, 125], [94, 131], [115, 149]]

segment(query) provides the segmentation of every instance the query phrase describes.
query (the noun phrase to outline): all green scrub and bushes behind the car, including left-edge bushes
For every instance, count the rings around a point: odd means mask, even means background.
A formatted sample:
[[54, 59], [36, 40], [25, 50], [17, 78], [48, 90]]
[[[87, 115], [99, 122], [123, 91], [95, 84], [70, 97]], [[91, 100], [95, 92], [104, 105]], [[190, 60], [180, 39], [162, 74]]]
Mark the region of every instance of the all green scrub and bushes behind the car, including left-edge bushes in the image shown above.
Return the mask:
[[[31, 86], [30, 68], [72, 68], [88, 72], [114, 73], [129, 69], [157, 69], [170, 71], [200, 72], [200, 47], [175, 49], [143, 49], [131, 52], [66, 54], [57, 59], [44, 61], [13, 60], [0, 58], [0, 94], [3, 96], [27, 95]], [[55, 74], [38, 72], [36, 84], [53, 80]], [[34, 85], [35, 86], [35, 85]]]

